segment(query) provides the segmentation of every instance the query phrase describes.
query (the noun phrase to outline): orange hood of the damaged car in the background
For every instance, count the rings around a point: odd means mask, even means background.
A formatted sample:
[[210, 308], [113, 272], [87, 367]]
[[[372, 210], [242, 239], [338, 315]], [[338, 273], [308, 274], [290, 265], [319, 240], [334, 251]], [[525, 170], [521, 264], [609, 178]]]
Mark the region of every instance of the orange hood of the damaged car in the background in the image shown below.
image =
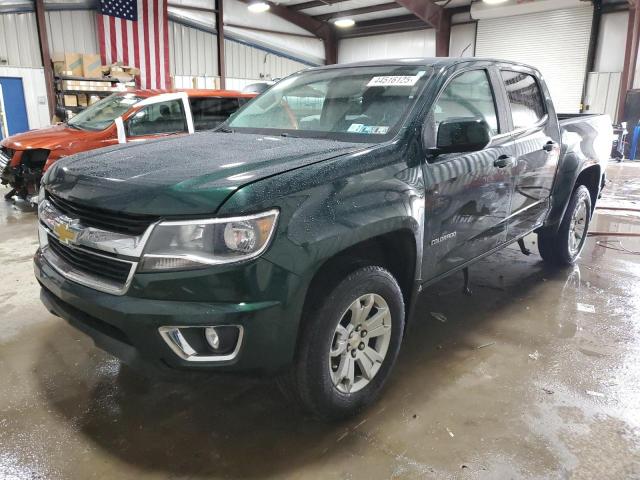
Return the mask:
[[101, 132], [78, 130], [60, 124], [12, 135], [3, 140], [2, 145], [13, 150], [26, 150], [27, 148], [58, 150], [68, 148], [77, 142], [94, 139], [99, 133]]

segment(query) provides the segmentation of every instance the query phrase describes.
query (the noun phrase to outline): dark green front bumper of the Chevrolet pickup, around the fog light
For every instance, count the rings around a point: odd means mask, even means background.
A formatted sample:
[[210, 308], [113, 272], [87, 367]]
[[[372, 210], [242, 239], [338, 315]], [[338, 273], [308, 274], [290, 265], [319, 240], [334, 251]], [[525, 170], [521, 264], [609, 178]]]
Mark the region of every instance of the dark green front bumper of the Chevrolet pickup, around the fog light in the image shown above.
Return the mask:
[[[296, 298], [302, 297], [295, 289], [287, 288], [287, 284], [291, 287], [300, 283], [293, 274], [287, 274], [291, 277], [282, 285], [284, 298], [278, 300], [205, 303], [102, 293], [65, 279], [40, 251], [34, 257], [34, 270], [42, 286], [42, 302], [50, 312], [90, 336], [99, 348], [134, 367], [271, 375], [293, 359], [301, 310]], [[244, 334], [233, 359], [190, 362], [176, 355], [162, 339], [159, 328], [168, 325], [238, 325]]]

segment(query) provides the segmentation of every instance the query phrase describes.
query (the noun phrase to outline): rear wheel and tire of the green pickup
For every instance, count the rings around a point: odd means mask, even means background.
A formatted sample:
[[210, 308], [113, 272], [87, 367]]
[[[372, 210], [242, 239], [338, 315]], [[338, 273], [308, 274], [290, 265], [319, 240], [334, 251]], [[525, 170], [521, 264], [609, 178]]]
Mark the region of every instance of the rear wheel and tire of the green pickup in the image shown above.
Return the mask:
[[591, 194], [587, 187], [579, 185], [573, 191], [560, 227], [538, 233], [538, 251], [546, 263], [569, 266], [576, 262], [587, 240], [591, 211]]

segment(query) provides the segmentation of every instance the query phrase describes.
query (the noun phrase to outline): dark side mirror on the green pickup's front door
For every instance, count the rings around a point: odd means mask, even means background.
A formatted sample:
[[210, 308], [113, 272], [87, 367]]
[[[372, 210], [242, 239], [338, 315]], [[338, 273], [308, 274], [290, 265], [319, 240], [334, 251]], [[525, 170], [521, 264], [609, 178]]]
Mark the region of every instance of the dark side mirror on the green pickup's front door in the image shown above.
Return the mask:
[[438, 126], [436, 154], [477, 152], [491, 142], [491, 130], [482, 119], [457, 118]]

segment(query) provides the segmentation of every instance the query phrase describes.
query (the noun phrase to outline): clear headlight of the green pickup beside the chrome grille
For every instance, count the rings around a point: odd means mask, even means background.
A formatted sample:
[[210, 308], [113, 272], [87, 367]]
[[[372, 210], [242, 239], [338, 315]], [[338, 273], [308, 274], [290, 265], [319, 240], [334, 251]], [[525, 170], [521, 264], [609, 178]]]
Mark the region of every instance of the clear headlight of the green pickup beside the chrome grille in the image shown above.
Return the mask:
[[140, 271], [220, 265], [257, 257], [269, 246], [277, 210], [235, 218], [162, 222], [147, 242]]

